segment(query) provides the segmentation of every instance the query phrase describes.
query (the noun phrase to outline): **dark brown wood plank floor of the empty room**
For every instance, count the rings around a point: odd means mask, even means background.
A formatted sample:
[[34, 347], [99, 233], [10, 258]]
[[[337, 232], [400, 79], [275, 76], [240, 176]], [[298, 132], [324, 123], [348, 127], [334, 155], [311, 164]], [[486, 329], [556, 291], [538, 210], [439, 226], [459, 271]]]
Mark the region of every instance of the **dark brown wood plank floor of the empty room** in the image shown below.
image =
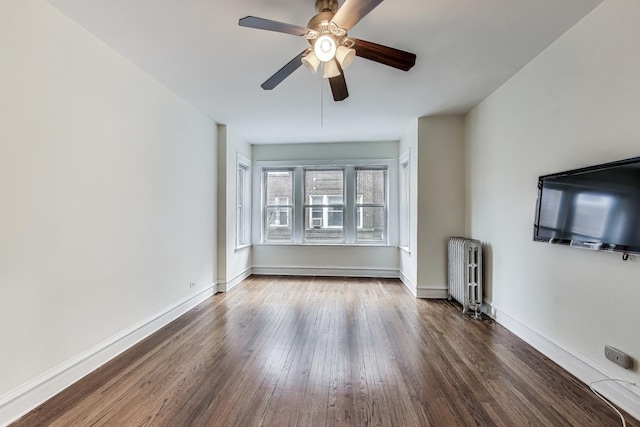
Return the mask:
[[[627, 416], [629, 426], [640, 426]], [[397, 280], [252, 277], [15, 426], [616, 426], [491, 320]]]

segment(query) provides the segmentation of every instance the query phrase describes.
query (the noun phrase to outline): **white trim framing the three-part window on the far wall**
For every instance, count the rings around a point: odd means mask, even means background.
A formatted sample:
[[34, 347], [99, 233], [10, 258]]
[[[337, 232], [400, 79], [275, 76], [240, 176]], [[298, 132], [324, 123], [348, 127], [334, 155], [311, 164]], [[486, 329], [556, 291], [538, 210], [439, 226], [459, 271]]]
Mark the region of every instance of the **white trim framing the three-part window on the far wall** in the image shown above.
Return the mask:
[[[398, 159], [353, 159], [353, 160], [300, 160], [300, 161], [271, 161], [271, 160], [258, 160], [255, 161], [253, 167], [256, 173], [253, 174], [253, 205], [259, 206], [253, 210], [253, 242], [258, 245], [285, 245], [285, 246], [375, 246], [375, 247], [397, 247], [398, 245], [398, 192], [390, 191], [390, 189], [397, 189], [398, 183]], [[304, 208], [304, 177], [302, 171], [304, 168], [327, 168], [332, 167], [347, 167], [351, 166], [353, 170], [356, 167], [386, 167], [387, 168], [387, 239], [385, 242], [356, 242], [355, 241], [355, 224], [348, 225], [347, 222], [353, 222], [354, 218], [351, 215], [345, 214], [345, 234], [349, 232], [351, 235], [345, 236], [344, 242], [303, 242], [302, 230], [304, 227], [304, 215], [296, 215], [296, 212], [303, 212]], [[268, 169], [294, 169], [294, 185], [293, 185], [293, 211], [292, 221], [294, 224], [294, 238], [292, 242], [265, 242], [263, 236], [263, 198], [264, 188], [262, 182], [262, 176], [265, 170]], [[346, 197], [350, 197], [355, 192], [355, 179], [353, 182], [353, 188], [345, 188]], [[298, 195], [302, 195], [299, 197]], [[355, 205], [354, 205], [355, 206]], [[299, 224], [298, 224], [299, 223]]]

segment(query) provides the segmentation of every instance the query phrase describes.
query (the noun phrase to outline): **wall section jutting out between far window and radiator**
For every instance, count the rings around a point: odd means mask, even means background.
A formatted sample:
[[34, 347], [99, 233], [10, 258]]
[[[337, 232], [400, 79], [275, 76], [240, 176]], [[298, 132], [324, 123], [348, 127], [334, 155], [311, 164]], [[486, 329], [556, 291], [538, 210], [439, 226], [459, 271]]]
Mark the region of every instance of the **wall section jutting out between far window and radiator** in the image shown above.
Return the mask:
[[400, 278], [420, 298], [446, 298], [447, 241], [465, 225], [464, 118], [421, 117], [399, 148], [411, 152], [409, 252], [400, 249]]

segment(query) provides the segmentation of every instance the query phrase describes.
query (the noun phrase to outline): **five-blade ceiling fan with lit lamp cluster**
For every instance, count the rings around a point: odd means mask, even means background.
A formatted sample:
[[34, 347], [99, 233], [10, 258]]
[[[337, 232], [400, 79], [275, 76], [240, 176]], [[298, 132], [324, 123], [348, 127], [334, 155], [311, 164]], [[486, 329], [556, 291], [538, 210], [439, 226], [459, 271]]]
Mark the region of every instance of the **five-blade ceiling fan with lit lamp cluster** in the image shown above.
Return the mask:
[[342, 7], [338, 8], [338, 0], [316, 0], [318, 14], [311, 18], [307, 27], [255, 16], [240, 19], [238, 24], [242, 27], [301, 36], [311, 44], [311, 47], [300, 52], [264, 82], [261, 85], [262, 88], [265, 90], [275, 88], [303, 64], [315, 74], [322, 63], [322, 77], [329, 79], [334, 101], [342, 101], [349, 96], [344, 69], [351, 65], [356, 56], [409, 71], [416, 63], [415, 54], [355, 39], [347, 34], [347, 31], [382, 1], [345, 0]]

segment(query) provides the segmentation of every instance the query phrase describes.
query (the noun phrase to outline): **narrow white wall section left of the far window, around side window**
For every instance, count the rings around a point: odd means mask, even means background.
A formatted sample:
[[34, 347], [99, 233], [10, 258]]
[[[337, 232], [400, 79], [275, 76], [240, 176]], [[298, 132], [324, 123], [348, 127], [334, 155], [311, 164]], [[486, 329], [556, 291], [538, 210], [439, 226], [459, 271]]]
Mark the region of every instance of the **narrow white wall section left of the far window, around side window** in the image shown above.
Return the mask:
[[236, 248], [237, 158], [251, 160], [251, 144], [218, 125], [218, 290], [228, 291], [251, 273], [251, 247]]

